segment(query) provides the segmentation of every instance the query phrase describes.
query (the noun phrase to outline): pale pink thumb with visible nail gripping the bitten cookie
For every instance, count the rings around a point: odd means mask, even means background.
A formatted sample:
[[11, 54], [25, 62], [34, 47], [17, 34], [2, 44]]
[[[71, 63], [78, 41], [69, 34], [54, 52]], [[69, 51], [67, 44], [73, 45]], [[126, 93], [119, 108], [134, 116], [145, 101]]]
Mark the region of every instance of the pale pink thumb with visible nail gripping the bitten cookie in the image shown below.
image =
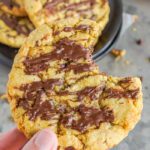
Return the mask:
[[57, 150], [58, 141], [51, 129], [36, 133], [22, 150]]

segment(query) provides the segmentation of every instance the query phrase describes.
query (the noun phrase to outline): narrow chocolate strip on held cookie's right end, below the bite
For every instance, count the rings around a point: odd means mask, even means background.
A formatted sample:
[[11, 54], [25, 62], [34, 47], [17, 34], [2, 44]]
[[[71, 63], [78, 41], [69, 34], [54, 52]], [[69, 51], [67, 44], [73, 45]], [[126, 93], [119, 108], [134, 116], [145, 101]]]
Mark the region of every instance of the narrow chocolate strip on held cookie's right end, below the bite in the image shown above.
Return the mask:
[[131, 99], [136, 99], [139, 93], [139, 89], [134, 89], [134, 90], [118, 90], [118, 89], [107, 89], [105, 91], [105, 98], [131, 98]]

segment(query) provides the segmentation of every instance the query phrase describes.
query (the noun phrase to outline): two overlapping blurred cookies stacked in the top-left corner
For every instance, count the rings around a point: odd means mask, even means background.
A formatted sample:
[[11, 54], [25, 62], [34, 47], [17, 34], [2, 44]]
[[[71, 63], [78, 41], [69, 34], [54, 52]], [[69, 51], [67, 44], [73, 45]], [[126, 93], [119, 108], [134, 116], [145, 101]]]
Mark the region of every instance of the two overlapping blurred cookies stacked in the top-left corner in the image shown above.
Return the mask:
[[0, 43], [20, 48], [33, 30], [23, 0], [0, 1]]

